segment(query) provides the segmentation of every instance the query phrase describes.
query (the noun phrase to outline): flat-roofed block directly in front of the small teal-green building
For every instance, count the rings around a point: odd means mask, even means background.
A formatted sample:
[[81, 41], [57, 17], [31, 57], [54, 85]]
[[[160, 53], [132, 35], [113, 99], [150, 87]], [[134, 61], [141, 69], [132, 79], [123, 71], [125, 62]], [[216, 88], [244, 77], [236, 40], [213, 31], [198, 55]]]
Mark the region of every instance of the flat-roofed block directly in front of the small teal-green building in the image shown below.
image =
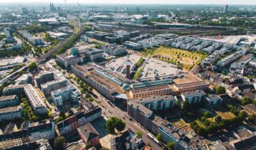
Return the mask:
[[82, 57], [77, 57], [74, 55], [57, 55], [57, 61], [65, 68], [68, 68], [70, 65], [75, 65], [83, 62]]

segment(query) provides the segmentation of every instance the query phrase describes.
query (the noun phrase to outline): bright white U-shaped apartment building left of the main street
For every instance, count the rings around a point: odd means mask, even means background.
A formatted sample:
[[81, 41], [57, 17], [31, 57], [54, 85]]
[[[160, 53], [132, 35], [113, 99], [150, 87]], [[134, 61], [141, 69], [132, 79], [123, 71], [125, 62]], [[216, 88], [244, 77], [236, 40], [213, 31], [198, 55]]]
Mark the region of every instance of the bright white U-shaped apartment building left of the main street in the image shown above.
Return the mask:
[[63, 102], [67, 100], [78, 102], [80, 96], [81, 93], [73, 85], [68, 85], [51, 92], [51, 97], [56, 106], [63, 106]]

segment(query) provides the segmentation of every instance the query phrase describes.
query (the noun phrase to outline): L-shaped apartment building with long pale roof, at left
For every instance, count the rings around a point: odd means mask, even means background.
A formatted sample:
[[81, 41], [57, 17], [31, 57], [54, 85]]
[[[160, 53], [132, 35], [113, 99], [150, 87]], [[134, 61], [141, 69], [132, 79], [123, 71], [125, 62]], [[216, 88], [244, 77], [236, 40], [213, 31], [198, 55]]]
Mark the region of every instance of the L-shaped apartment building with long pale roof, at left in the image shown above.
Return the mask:
[[3, 89], [3, 95], [26, 95], [33, 110], [38, 114], [47, 113], [46, 106], [31, 84], [11, 85]]

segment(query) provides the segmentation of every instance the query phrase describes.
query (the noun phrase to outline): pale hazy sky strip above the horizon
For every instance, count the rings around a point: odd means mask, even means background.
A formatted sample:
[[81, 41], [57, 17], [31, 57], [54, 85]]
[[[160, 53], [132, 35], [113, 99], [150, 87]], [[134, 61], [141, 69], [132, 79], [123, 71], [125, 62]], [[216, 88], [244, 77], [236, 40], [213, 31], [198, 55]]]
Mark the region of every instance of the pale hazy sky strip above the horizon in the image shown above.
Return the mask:
[[[256, 5], [256, 0], [66, 0], [66, 3], [119, 3], [119, 4], [229, 4]], [[0, 3], [53, 2], [64, 3], [64, 0], [0, 0]], [[1, 5], [1, 4], [0, 4]]]

